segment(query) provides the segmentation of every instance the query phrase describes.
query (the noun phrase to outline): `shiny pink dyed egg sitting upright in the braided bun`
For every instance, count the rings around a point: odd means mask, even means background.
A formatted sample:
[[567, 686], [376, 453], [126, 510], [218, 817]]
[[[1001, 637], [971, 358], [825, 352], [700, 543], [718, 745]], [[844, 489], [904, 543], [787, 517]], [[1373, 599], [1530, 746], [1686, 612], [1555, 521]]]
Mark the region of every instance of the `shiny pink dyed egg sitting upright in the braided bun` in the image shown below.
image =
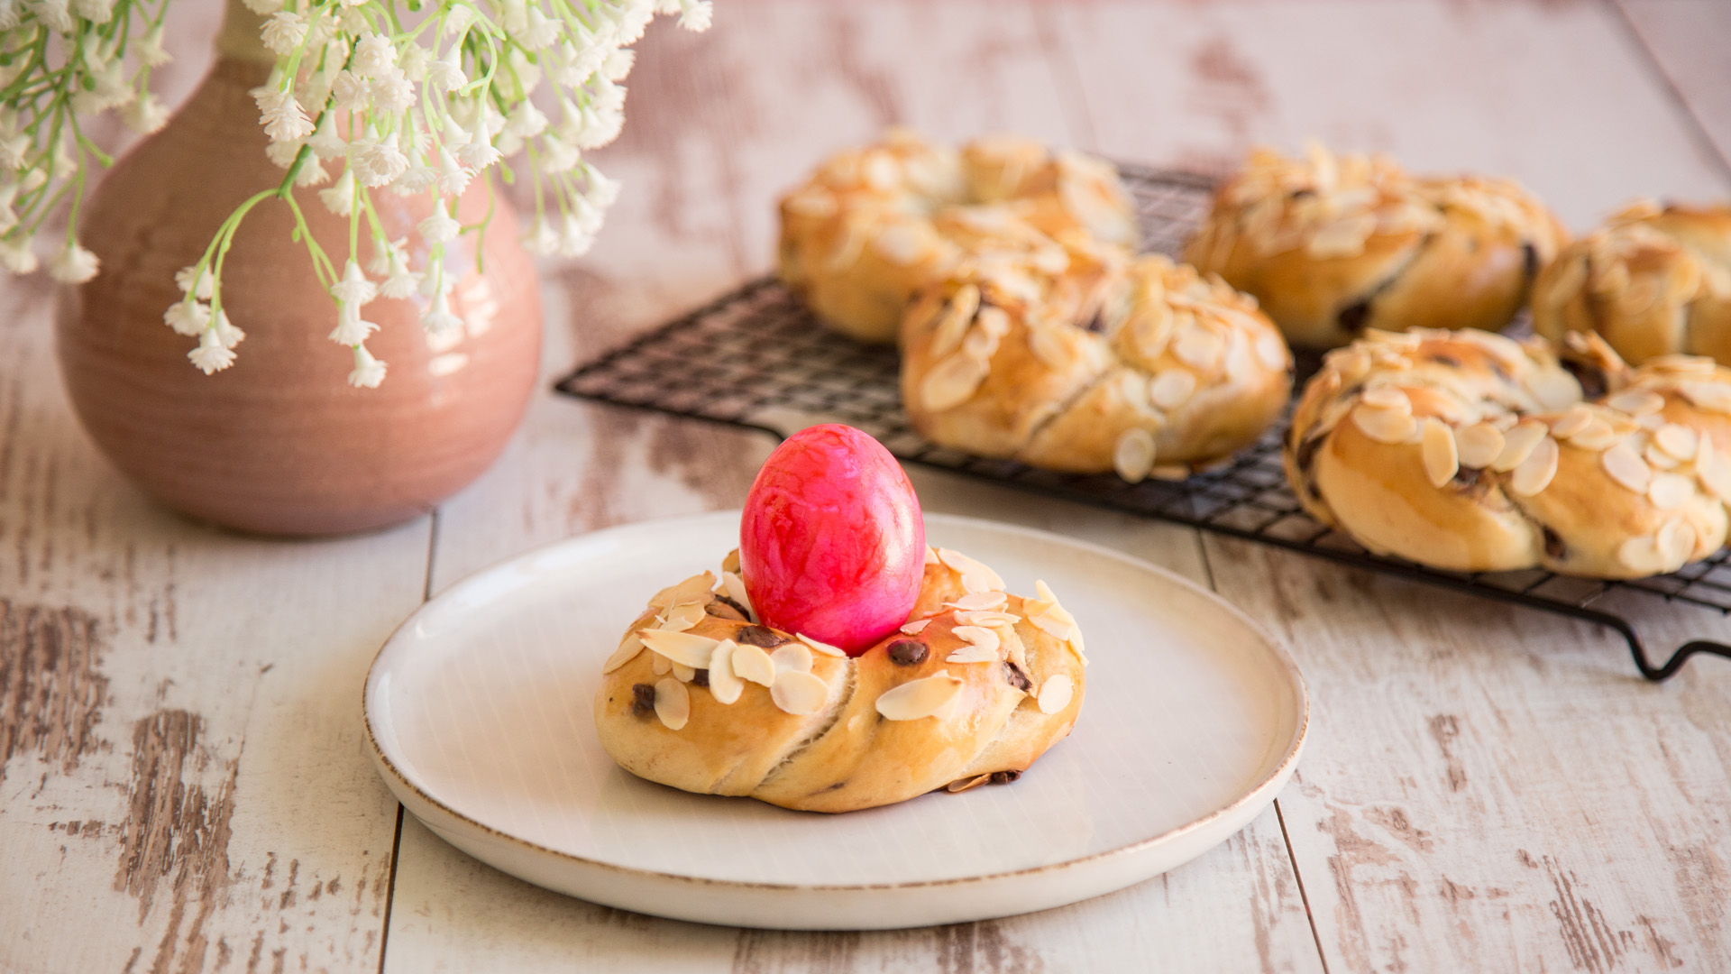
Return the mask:
[[751, 482], [739, 567], [763, 624], [859, 655], [919, 598], [919, 497], [902, 464], [860, 430], [801, 430]]

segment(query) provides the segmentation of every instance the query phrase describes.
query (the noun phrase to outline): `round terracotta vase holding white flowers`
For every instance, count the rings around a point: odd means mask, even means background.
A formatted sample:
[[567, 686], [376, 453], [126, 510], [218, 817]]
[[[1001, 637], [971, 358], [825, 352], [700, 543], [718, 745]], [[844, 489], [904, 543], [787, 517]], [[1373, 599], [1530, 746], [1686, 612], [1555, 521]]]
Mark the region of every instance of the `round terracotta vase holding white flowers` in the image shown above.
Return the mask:
[[[388, 364], [377, 388], [351, 388], [351, 354], [329, 341], [336, 307], [291, 239], [286, 203], [258, 205], [223, 270], [223, 308], [246, 331], [237, 360], [206, 376], [187, 360], [196, 340], [163, 324], [180, 300], [175, 270], [194, 263], [235, 206], [282, 180], [265, 156], [249, 88], [272, 55], [258, 19], [230, 0], [218, 59], [180, 113], [121, 159], [85, 205], [81, 239], [102, 260], [90, 282], [64, 289], [59, 359], [73, 406], [97, 445], [145, 492], [199, 520], [263, 534], [338, 534], [391, 525], [433, 510], [486, 470], [516, 430], [537, 381], [540, 298], [497, 201], [485, 234], [454, 246], [466, 269], [452, 310], [459, 334], [428, 336], [415, 300], [377, 298], [367, 348]], [[336, 175], [336, 173], [332, 173]], [[313, 237], [338, 269], [348, 218], [315, 189], [296, 191]], [[409, 237], [426, 196], [374, 191], [391, 237]], [[474, 184], [459, 206], [486, 211]], [[362, 234], [362, 265], [372, 248]]]

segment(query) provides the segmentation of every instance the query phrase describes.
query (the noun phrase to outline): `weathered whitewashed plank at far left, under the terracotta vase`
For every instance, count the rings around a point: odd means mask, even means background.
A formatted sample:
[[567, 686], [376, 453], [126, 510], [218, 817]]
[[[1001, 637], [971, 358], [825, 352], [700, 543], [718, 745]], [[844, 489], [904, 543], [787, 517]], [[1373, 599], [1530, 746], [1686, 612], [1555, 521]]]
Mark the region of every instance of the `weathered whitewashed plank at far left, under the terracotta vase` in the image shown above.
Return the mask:
[[[218, 9], [177, 0], [166, 101]], [[275, 542], [156, 508], [78, 430], [50, 305], [0, 284], [0, 971], [376, 971], [396, 804], [358, 686], [429, 522]]]

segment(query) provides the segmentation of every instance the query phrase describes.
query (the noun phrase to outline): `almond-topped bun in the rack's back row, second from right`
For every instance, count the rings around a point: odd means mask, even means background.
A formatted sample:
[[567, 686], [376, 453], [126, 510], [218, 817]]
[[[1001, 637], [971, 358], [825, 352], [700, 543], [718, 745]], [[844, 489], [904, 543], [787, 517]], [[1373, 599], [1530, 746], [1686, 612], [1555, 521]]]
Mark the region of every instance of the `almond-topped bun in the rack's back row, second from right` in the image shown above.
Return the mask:
[[1418, 179], [1385, 156], [1250, 154], [1184, 256], [1255, 295], [1293, 345], [1366, 329], [1497, 331], [1568, 239], [1513, 180]]

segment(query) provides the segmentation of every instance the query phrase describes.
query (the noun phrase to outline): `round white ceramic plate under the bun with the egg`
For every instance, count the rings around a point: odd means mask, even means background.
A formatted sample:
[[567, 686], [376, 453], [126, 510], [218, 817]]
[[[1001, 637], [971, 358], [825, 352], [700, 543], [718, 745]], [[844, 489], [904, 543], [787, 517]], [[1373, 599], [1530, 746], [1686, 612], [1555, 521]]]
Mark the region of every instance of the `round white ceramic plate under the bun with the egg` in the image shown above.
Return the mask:
[[1054, 534], [926, 515], [930, 541], [1046, 579], [1092, 666], [1068, 740], [1020, 782], [848, 815], [692, 795], [601, 750], [601, 660], [656, 589], [720, 563], [739, 515], [587, 534], [415, 612], [367, 676], [374, 761], [403, 806], [493, 867], [682, 920], [782, 929], [954, 924], [1158, 875], [1257, 816], [1309, 723], [1291, 655], [1217, 596]]

